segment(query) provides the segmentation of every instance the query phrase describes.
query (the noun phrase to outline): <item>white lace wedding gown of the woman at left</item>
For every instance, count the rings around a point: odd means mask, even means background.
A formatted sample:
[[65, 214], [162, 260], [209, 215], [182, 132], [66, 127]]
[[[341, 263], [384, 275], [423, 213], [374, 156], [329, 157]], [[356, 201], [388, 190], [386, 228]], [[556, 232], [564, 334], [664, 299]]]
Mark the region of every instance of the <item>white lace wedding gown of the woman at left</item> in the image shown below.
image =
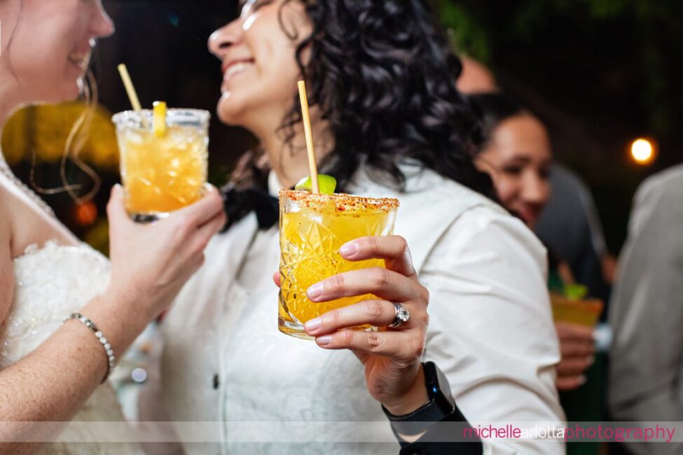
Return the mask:
[[[0, 186], [7, 183], [6, 176], [0, 174]], [[0, 323], [0, 370], [34, 351], [60, 327], [64, 317], [101, 292], [109, 279], [109, 261], [85, 244], [59, 246], [50, 241], [42, 247], [29, 246], [14, 260], [14, 273], [13, 301]], [[73, 420], [123, 421], [112, 386], [99, 386]], [[70, 440], [94, 439], [88, 426], [81, 424], [78, 434], [69, 428], [69, 435], [74, 436]], [[131, 444], [56, 442], [41, 454], [142, 454], [142, 450]]]

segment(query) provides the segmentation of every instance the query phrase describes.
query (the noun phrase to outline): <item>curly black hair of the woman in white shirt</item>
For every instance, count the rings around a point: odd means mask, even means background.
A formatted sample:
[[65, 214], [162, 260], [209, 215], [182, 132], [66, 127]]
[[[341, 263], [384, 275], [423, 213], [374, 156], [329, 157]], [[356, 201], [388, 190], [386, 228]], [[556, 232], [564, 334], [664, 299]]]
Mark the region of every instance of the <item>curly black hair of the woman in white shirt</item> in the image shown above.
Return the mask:
[[[428, 0], [294, 1], [303, 1], [313, 25], [296, 61], [310, 105], [329, 122], [334, 145], [321, 169], [336, 177], [338, 188], [364, 161], [383, 183], [403, 189], [397, 164], [411, 158], [496, 200], [490, 177], [472, 162], [481, 134], [455, 87], [462, 64]], [[282, 14], [280, 25], [297, 38]], [[290, 151], [298, 122], [295, 96], [280, 127]], [[242, 160], [243, 169], [248, 162], [254, 160]]]

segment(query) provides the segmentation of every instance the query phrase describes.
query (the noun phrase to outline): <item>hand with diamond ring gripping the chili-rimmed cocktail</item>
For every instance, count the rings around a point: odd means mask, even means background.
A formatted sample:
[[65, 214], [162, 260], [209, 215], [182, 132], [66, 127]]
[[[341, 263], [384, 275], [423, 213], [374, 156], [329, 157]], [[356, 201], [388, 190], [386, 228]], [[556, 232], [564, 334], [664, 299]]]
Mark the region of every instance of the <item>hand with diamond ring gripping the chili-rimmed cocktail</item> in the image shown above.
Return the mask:
[[[383, 300], [364, 300], [328, 311], [308, 321], [306, 332], [324, 349], [351, 349], [365, 366], [368, 391], [389, 412], [413, 412], [428, 400], [420, 359], [429, 323], [429, 291], [418, 281], [406, 239], [395, 235], [361, 237], [343, 245], [340, 253], [352, 261], [384, 259], [387, 268], [331, 276], [308, 288], [308, 298], [328, 302], [373, 294]], [[279, 284], [277, 274], [275, 281]], [[392, 302], [410, 312], [409, 321], [379, 332], [342, 330], [366, 324], [387, 327], [396, 317]]]

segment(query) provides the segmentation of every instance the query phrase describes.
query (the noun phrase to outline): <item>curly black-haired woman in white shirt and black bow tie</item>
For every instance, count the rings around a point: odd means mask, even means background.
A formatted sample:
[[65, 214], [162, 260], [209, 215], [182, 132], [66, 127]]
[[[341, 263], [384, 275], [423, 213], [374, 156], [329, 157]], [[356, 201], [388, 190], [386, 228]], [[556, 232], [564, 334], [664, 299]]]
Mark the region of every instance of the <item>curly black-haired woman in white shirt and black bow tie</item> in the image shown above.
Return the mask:
[[[562, 421], [544, 249], [491, 199], [490, 179], [474, 167], [478, 120], [455, 88], [460, 61], [429, 1], [247, 1], [209, 48], [222, 62], [219, 117], [256, 134], [260, 147], [226, 188], [229, 227], [162, 324], [154, 408], [163, 402], [173, 421], [221, 422], [206, 440], [221, 442], [184, 449], [395, 454], [398, 444], [372, 422], [454, 420], [453, 409], [471, 423]], [[277, 216], [265, 213], [277, 208], [268, 192], [308, 174], [301, 78], [321, 172], [347, 193], [401, 202], [396, 236], [340, 250], [347, 260], [382, 258], [386, 269], [308, 289], [313, 302], [378, 297], [308, 321], [315, 343], [276, 329], [270, 272], [280, 244]], [[401, 307], [410, 318], [398, 326], [340, 330], [390, 326]], [[429, 433], [429, 425], [401, 428], [394, 424], [404, 444], [418, 440], [411, 450]], [[483, 448], [563, 452], [561, 442], [539, 440]]]

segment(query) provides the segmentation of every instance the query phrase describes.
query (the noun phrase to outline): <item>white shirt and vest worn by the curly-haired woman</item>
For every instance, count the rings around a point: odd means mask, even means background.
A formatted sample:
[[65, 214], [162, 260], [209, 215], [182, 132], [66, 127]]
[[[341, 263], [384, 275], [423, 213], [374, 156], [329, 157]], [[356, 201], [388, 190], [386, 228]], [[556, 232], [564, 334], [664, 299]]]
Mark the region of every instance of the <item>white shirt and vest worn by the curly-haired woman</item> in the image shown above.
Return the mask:
[[[395, 233], [408, 240], [430, 293], [425, 359], [446, 373], [471, 422], [560, 423], [554, 385], [559, 349], [543, 246], [485, 197], [431, 171], [403, 171], [406, 193], [375, 183], [364, 171], [349, 189], [401, 201]], [[272, 174], [270, 191], [277, 189]], [[163, 322], [159, 390], [172, 420], [224, 422], [212, 437], [228, 442], [186, 444], [186, 451], [397, 454], [396, 442], [373, 442], [370, 426], [343, 426], [381, 422], [384, 437], [389, 435], [382, 440], [392, 441], [353, 353], [326, 351], [277, 330], [277, 227], [258, 231], [252, 214], [217, 235], [206, 256]], [[302, 423], [291, 428], [291, 421]], [[240, 422], [269, 423], [263, 428]], [[277, 442], [278, 431], [299, 443]], [[560, 442], [483, 444], [486, 454], [564, 453]]]

